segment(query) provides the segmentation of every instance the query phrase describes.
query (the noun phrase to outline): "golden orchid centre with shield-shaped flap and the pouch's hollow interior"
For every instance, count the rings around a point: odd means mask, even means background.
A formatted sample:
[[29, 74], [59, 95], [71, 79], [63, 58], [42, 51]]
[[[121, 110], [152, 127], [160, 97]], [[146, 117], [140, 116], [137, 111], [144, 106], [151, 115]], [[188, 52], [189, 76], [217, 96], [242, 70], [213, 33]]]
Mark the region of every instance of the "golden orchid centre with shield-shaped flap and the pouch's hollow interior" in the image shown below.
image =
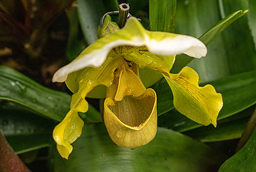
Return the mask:
[[145, 94], [146, 88], [138, 74], [138, 65], [124, 61], [115, 72], [111, 87], [107, 89], [107, 97], [113, 100], [109, 105], [112, 113], [125, 125], [139, 127], [152, 114], [156, 97]]

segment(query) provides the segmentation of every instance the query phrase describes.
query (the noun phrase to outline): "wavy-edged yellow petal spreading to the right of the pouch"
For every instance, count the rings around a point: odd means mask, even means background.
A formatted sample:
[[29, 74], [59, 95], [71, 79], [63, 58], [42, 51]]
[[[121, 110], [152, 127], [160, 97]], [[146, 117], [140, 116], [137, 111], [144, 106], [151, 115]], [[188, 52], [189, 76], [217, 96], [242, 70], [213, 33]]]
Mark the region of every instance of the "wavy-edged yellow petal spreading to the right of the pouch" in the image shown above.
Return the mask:
[[179, 74], [163, 76], [174, 94], [174, 107], [181, 114], [202, 125], [217, 126], [223, 101], [212, 85], [199, 87], [199, 76], [190, 67], [184, 67]]

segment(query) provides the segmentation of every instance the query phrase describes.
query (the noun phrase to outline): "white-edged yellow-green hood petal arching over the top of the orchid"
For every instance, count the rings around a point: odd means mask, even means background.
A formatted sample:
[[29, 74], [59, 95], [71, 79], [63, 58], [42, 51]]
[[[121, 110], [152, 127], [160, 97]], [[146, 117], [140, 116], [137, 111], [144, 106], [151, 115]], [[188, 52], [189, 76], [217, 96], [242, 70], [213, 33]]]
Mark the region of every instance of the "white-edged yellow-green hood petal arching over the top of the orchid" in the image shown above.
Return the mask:
[[174, 56], [185, 53], [196, 58], [205, 56], [207, 49], [201, 41], [192, 36], [165, 32], [149, 32], [134, 17], [131, 17], [122, 30], [105, 36], [89, 45], [74, 61], [59, 69], [53, 82], [64, 82], [72, 72], [84, 67], [99, 67], [104, 63], [113, 47], [122, 45], [146, 46], [152, 54]]

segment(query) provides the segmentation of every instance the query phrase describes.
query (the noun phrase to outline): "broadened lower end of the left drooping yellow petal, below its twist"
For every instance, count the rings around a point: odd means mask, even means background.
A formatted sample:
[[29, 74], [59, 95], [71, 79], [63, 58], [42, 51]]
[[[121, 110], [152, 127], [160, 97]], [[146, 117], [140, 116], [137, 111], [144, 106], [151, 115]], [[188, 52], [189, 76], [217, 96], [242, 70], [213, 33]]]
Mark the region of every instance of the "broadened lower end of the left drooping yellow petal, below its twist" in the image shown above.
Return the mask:
[[71, 109], [64, 120], [54, 128], [53, 139], [62, 158], [68, 159], [68, 155], [73, 150], [71, 143], [81, 135], [83, 126], [84, 122], [77, 111]]

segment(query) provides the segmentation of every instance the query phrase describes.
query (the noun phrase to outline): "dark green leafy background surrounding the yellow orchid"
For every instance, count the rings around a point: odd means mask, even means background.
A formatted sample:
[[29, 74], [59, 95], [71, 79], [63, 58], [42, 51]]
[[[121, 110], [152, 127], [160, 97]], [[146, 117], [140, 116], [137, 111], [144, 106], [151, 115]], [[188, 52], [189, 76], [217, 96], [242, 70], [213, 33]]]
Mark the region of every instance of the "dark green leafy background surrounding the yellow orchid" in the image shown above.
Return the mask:
[[[188, 34], [208, 45], [202, 59], [177, 56], [172, 72], [188, 65], [201, 85], [210, 83], [222, 94], [218, 126], [179, 114], [170, 88], [159, 80], [152, 85], [159, 115], [152, 142], [134, 150], [116, 146], [101, 123], [100, 100], [89, 99], [89, 111], [80, 114], [82, 136], [64, 160], [52, 131], [71, 95], [51, 78], [98, 39], [100, 17], [122, 2], [148, 30]], [[255, 10], [253, 0], [0, 0], [0, 130], [31, 171], [253, 171]]]

